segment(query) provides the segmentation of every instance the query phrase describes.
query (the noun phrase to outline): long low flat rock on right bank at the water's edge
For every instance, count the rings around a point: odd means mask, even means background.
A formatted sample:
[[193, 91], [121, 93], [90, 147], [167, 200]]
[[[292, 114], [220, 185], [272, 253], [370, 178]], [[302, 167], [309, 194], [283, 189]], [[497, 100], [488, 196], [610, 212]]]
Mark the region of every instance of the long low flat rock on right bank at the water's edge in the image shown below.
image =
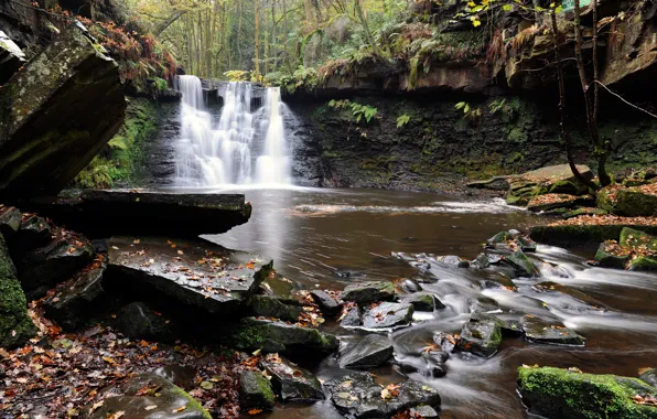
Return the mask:
[[623, 228], [633, 228], [650, 235], [657, 235], [657, 226], [633, 225], [623, 223], [607, 225], [549, 225], [531, 227], [530, 237], [547, 245], [580, 246], [585, 244], [600, 244], [605, 240], [617, 240]]

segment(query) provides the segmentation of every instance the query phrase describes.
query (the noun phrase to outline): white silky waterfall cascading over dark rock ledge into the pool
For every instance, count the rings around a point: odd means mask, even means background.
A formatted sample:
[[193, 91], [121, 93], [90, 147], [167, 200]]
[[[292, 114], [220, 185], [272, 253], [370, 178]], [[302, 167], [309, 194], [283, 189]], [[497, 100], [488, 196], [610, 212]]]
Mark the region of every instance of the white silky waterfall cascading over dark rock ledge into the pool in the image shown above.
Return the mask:
[[218, 119], [205, 106], [198, 77], [177, 76], [177, 89], [183, 97], [181, 137], [175, 147], [176, 185], [291, 183], [283, 126], [283, 114], [289, 110], [278, 87], [268, 87], [263, 106], [254, 111], [254, 85], [228, 83]]

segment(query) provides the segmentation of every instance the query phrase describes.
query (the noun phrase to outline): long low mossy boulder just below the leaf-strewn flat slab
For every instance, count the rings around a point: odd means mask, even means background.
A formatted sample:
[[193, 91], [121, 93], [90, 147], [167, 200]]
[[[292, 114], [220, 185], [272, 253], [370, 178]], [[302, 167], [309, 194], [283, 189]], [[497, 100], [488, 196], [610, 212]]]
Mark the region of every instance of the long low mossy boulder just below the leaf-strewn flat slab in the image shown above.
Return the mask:
[[252, 318], [235, 325], [226, 343], [243, 351], [299, 353], [309, 357], [325, 355], [338, 347], [334, 335], [316, 329]]

